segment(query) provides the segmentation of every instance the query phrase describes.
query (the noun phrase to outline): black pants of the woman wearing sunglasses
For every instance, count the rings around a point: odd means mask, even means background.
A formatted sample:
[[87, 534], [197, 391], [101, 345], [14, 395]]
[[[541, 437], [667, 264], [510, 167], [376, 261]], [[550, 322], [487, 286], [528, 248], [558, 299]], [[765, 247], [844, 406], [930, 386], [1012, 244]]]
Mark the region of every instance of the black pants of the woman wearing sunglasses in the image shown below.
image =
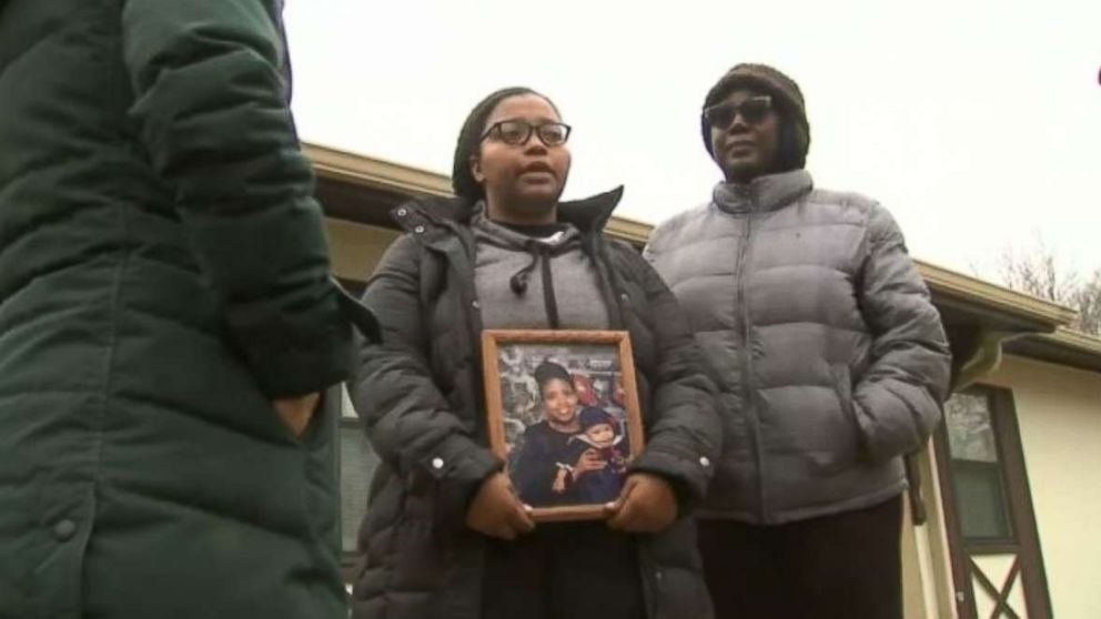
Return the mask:
[[716, 619], [901, 619], [902, 497], [777, 526], [700, 520]]

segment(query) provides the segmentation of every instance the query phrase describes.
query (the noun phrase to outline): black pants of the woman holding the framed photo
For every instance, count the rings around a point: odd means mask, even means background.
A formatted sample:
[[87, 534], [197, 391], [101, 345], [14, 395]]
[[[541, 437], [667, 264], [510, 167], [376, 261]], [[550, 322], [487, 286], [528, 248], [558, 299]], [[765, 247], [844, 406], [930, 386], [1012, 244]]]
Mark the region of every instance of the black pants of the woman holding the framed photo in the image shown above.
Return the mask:
[[604, 522], [539, 525], [491, 540], [483, 619], [645, 619], [635, 539]]

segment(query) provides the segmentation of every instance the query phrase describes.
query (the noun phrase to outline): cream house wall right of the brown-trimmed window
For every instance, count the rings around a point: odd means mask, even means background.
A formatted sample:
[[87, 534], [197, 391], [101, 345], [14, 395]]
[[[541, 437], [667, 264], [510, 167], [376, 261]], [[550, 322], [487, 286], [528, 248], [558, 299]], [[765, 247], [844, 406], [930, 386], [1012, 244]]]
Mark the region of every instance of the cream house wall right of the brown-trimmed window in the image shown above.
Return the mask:
[[1007, 357], [1055, 617], [1101, 617], [1101, 374]]

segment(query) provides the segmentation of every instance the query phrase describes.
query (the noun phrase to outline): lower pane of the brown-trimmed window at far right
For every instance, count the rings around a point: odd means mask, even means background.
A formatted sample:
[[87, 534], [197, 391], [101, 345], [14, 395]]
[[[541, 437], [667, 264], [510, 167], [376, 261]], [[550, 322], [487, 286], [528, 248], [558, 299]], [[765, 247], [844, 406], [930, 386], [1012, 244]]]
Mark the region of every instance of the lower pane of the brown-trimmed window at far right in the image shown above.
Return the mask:
[[998, 465], [952, 461], [960, 532], [964, 539], [1012, 539]]

